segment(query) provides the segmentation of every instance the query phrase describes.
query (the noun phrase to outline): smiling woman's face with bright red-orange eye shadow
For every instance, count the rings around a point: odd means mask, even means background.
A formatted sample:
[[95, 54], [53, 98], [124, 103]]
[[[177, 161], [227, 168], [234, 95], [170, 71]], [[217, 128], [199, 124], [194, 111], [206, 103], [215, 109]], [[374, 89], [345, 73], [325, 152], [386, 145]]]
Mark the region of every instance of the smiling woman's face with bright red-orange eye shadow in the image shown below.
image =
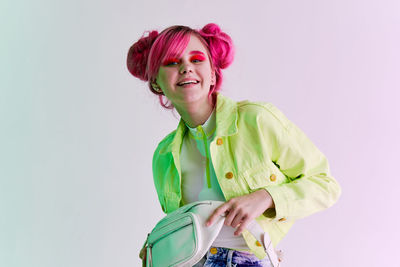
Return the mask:
[[179, 58], [167, 58], [161, 63], [153, 85], [160, 87], [175, 107], [188, 107], [208, 101], [213, 75], [208, 49], [191, 35]]

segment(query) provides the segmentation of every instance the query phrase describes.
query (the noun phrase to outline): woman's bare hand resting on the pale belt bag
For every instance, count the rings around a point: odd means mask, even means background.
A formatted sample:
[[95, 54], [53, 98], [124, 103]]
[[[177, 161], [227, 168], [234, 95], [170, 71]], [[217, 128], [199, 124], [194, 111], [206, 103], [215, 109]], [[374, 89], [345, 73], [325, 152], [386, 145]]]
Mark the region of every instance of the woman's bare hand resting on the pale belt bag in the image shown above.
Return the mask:
[[265, 189], [235, 197], [214, 210], [206, 222], [206, 226], [213, 224], [218, 216], [226, 214], [224, 224], [236, 228], [235, 235], [240, 235], [247, 225], [269, 208], [274, 208], [274, 201]]

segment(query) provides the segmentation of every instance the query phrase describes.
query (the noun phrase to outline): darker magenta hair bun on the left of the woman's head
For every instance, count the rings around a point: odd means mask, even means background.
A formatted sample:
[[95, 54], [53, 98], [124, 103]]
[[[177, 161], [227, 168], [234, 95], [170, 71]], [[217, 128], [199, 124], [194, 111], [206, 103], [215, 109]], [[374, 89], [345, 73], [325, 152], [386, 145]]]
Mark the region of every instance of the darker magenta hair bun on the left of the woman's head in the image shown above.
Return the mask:
[[148, 81], [146, 72], [147, 59], [151, 46], [158, 36], [158, 31], [151, 31], [148, 33], [148, 36], [144, 36], [145, 34], [143, 34], [143, 36], [129, 48], [126, 60], [129, 72], [143, 81]]

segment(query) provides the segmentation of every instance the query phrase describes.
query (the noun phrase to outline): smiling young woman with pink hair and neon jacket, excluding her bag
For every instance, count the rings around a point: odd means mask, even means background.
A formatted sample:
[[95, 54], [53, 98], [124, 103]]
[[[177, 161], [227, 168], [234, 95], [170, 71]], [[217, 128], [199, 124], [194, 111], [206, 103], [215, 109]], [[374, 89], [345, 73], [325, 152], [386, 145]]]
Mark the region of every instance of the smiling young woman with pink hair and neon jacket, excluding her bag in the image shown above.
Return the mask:
[[133, 44], [127, 65], [181, 116], [153, 157], [163, 211], [225, 201], [208, 219], [225, 214], [224, 227], [197, 266], [271, 266], [248, 228], [257, 222], [276, 246], [295, 220], [333, 205], [340, 187], [325, 156], [274, 105], [219, 93], [233, 55], [216, 24], [172, 26]]

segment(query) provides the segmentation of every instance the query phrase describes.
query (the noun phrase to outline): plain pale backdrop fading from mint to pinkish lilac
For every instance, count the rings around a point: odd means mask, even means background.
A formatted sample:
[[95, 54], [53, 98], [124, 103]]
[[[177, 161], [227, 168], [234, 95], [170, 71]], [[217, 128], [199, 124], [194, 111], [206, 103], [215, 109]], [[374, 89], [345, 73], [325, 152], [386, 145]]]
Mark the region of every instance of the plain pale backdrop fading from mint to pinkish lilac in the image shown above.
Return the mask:
[[0, 3], [0, 266], [140, 266], [163, 214], [157, 143], [178, 119], [128, 73], [145, 30], [218, 23], [222, 92], [272, 102], [328, 157], [342, 196], [279, 244], [284, 266], [400, 266], [400, 2]]

